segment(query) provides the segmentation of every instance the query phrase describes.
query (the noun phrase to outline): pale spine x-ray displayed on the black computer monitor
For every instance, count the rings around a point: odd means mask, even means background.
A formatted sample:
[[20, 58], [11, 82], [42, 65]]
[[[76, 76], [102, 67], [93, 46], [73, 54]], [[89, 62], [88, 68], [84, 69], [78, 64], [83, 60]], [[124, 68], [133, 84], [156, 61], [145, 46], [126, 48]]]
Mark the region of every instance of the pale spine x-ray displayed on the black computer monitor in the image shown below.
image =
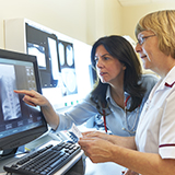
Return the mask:
[[0, 65], [0, 98], [2, 103], [3, 120], [20, 118], [21, 107], [16, 90], [14, 67]]

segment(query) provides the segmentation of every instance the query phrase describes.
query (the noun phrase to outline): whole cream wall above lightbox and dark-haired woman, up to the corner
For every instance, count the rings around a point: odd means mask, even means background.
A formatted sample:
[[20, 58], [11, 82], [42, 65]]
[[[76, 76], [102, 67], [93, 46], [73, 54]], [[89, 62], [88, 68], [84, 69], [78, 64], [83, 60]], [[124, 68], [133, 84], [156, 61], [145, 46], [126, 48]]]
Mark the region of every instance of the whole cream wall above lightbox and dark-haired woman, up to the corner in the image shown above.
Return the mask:
[[0, 0], [0, 48], [5, 19], [25, 18], [86, 44], [121, 32], [117, 0]]

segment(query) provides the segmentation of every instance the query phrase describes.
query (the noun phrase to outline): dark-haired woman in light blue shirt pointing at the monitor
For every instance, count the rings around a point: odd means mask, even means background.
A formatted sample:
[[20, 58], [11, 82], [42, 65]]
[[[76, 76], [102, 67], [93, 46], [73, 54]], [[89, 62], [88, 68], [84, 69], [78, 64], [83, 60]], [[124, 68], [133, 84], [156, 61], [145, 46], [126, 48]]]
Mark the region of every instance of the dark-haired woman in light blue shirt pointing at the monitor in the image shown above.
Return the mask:
[[[54, 130], [70, 129], [90, 118], [102, 115], [104, 126], [113, 135], [135, 136], [140, 113], [158, 79], [142, 74], [141, 66], [130, 43], [122, 36], [100, 38], [92, 47], [91, 60], [100, 80], [80, 104], [65, 114], [57, 114], [51, 104], [35, 91], [23, 93], [24, 102], [42, 106]], [[95, 73], [96, 75], [96, 73]]]

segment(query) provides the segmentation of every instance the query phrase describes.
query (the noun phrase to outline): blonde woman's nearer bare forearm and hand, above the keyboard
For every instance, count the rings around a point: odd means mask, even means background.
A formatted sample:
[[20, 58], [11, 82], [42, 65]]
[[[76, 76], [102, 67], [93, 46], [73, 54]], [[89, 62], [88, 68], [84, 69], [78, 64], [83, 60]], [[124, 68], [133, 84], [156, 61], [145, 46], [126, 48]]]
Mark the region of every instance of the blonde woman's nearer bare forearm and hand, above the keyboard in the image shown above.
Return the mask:
[[142, 175], [175, 174], [175, 160], [130, 150], [97, 137], [83, 137], [79, 144], [94, 163], [114, 162]]

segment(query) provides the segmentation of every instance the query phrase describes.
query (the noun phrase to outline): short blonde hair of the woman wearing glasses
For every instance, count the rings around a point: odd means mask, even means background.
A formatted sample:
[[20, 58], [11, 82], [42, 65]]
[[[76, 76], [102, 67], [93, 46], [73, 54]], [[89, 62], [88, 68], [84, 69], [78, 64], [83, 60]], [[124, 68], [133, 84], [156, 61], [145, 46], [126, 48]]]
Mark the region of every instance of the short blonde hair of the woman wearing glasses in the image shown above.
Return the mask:
[[175, 58], [175, 10], [163, 10], [143, 16], [136, 26], [136, 37], [142, 31], [152, 31], [159, 38], [159, 49]]

